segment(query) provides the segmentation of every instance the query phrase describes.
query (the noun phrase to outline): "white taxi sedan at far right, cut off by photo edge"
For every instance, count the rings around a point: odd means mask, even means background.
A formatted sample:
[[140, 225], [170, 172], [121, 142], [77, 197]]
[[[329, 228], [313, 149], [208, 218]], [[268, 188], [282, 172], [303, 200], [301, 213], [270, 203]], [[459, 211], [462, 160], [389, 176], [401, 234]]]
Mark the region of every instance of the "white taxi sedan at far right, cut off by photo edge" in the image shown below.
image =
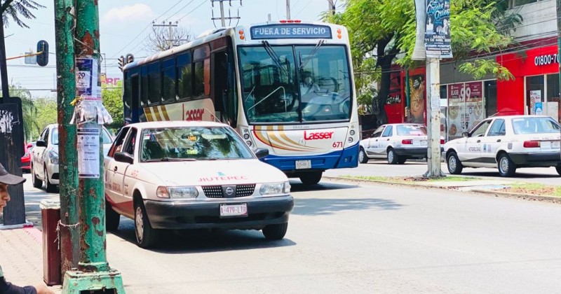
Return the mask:
[[548, 116], [487, 118], [463, 135], [444, 146], [450, 174], [464, 167], [496, 167], [501, 176], [518, 167], [555, 167], [561, 174], [560, 126]]

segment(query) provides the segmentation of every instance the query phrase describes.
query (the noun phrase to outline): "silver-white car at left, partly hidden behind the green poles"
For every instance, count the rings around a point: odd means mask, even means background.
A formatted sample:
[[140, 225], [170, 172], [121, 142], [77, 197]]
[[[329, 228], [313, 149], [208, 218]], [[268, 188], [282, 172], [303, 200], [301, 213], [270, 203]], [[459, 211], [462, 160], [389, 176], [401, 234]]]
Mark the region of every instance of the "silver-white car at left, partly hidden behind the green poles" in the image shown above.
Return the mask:
[[[105, 127], [102, 128], [101, 139], [104, 154], [107, 154], [113, 139]], [[59, 181], [57, 124], [47, 125], [41, 132], [32, 150], [30, 169], [35, 188], [41, 188], [45, 183], [47, 192], [56, 192]]]

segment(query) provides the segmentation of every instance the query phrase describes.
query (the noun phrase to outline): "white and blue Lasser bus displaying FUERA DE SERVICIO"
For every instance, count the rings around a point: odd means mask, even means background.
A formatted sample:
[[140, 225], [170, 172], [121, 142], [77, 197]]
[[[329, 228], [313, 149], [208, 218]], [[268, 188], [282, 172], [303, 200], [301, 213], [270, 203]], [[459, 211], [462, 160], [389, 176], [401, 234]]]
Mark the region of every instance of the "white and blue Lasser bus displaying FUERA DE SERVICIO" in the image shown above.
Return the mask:
[[215, 29], [127, 64], [126, 123], [217, 120], [303, 183], [358, 166], [358, 113], [345, 27], [280, 20]]

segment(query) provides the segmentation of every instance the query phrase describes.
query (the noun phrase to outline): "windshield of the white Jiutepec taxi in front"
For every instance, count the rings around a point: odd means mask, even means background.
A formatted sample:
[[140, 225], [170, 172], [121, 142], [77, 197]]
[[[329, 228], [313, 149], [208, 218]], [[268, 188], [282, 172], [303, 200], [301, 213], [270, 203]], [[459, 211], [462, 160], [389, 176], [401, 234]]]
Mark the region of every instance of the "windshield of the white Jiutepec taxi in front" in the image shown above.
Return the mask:
[[142, 131], [142, 162], [252, 159], [252, 151], [227, 127], [158, 127]]

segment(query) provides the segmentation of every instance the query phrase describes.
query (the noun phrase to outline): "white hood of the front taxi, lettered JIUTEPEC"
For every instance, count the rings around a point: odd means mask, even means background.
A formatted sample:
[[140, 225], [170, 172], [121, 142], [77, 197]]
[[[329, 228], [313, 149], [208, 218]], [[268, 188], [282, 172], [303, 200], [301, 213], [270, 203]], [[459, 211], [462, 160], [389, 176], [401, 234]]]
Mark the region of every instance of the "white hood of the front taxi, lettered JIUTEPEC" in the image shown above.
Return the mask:
[[[207, 186], [242, 183], [271, 183], [288, 178], [259, 160], [199, 160], [185, 162], [143, 162], [146, 181], [163, 186]], [[149, 176], [151, 175], [151, 176]]]

